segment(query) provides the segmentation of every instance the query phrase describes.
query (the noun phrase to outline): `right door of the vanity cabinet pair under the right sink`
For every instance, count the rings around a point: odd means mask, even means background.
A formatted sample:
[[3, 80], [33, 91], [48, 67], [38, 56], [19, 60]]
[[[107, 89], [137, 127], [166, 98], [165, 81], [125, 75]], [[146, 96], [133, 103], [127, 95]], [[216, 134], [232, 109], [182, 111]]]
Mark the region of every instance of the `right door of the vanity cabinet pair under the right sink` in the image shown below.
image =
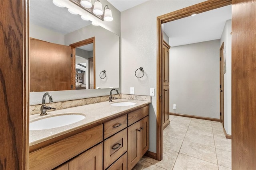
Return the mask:
[[149, 149], [149, 116], [140, 121], [140, 158]]

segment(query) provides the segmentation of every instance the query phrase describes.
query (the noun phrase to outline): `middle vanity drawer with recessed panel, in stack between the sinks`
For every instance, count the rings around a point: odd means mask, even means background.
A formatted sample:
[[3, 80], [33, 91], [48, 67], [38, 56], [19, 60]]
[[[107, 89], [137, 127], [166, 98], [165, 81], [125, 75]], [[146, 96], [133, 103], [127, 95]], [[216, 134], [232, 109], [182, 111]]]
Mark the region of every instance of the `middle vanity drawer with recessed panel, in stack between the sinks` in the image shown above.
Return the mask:
[[104, 169], [127, 151], [127, 128], [104, 141]]

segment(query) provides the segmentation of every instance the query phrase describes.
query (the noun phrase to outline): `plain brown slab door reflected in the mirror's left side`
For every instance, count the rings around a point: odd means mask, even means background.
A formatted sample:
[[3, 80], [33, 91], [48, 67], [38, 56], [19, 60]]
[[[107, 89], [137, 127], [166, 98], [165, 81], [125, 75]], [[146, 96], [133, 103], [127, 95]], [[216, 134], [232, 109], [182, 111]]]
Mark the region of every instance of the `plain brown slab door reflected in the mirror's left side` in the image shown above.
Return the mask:
[[71, 47], [30, 38], [30, 92], [71, 90]]

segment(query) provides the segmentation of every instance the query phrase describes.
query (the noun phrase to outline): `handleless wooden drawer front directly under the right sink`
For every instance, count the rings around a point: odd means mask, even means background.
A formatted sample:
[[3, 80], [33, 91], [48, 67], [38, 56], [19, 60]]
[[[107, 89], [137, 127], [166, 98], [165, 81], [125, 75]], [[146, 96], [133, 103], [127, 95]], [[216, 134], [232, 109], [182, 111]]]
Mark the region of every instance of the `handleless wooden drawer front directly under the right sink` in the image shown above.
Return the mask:
[[128, 126], [132, 125], [136, 121], [139, 121], [143, 117], [146, 117], [149, 114], [149, 106], [142, 107], [136, 111], [128, 113]]

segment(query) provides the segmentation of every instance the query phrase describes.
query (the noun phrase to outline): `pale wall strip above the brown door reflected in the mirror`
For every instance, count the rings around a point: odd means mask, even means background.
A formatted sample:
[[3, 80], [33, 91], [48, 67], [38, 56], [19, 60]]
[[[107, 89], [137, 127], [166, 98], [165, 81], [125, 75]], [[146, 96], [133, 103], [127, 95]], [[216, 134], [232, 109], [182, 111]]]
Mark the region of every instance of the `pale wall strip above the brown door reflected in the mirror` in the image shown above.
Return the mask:
[[51, 31], [50, 29], [34, 25], [32, 23], [29, 24], [29, 36], [50, 43], [65, 45], [64, 35], [58, 32]]

